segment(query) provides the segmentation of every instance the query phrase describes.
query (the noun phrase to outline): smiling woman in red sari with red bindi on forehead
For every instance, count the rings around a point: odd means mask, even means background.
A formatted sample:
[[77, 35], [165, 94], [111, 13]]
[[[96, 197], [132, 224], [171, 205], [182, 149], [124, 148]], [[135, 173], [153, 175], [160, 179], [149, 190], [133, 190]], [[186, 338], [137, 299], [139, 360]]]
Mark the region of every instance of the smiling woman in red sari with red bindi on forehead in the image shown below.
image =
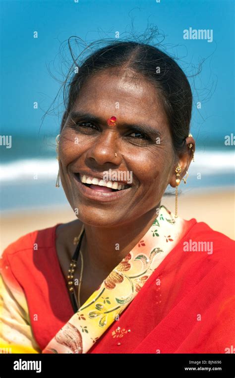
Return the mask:
[[[225, 353], [235, 341], [234, 242], [177, 215], [195, 152], [185, 74], [156, 47], [117, 41], [81, 62], [68, 88], [57, 186], [77, 219], [5, 249], [1, 344], [13, 353]], [[169, 184], [175, 214], [162, 205]], [[192, 242], [210, 253], [185, 251]]]

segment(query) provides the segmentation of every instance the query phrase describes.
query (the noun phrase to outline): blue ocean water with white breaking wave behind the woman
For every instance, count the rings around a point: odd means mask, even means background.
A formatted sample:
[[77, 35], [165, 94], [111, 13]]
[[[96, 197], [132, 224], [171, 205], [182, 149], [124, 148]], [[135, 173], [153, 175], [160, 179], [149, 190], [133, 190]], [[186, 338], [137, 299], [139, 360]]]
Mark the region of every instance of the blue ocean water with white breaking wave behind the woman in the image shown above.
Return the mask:
[[[55, 137], [15, 137], [11, 148], [0, 146], [0, 211], [67, 204], [62, 187], [55, 187], [58, 161]], [[235, 186], [235, 151], [218, 143], [197, 146], [181, 192]], [[170, 190], [169, 190], [170, 189]], [[167, 192], [173, 191], [167, 188]]]

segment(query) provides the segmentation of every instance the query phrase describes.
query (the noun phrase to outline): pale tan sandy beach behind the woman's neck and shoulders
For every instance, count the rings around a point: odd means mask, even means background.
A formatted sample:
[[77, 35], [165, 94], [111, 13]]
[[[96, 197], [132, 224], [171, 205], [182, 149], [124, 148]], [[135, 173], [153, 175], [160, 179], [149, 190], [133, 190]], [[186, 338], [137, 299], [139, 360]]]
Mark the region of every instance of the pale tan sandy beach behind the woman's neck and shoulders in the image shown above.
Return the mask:
[[[162, 205], [175, 212], [175, 197], [163, 197]], [[235, 192], [232, 189], [201, 193], [197, 190], [197, 194], [192, 191], [181, 194], [178, 199], [178, 215], [184, 219], [204, 221], [214, 230], [235, 239]], [[7, 245], [28, 232], [66, 223], [75, 218], [69, 204], [65, 207], [3, 213], [0, 217], [0, 254]]]

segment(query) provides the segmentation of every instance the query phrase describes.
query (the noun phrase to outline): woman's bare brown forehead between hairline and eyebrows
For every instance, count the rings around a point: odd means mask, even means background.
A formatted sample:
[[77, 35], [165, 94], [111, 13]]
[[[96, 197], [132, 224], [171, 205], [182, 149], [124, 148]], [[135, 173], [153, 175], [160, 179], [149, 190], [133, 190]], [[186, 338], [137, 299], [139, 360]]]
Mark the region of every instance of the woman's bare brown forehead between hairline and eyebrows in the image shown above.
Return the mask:
[[76, 107], [108, 110], [109, 114], [117, 109], [122, 114], [165, 115], [156, 88], [147, 80], [106, 72], [91, 76], [85, 82]]

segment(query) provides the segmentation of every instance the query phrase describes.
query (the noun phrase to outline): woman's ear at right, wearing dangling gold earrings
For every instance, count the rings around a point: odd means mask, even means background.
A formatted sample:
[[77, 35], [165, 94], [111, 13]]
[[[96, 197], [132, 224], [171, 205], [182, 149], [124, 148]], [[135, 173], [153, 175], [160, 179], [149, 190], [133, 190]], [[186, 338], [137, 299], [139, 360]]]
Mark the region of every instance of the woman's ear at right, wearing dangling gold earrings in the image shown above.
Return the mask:
[[194, 156], [195, 152], [195, 140], [193, 139], [192, 136], [188, 136], [185, 138], [185, 152], [183, 154], [180, 154], [178, 156], [178, 159], [176, 160], [174, 166], [173, 166], [173, 171], [172, 171], [172, 176], [169, 184], [175, 188], [176, 187], [176, 167], [179, 163], [181, 172], [179, 173], [178, 178], [182, 180], [182, 178], [185, 176], [186, 171], [188, 171], [189, 165], [192, 161], [192, 158]]

